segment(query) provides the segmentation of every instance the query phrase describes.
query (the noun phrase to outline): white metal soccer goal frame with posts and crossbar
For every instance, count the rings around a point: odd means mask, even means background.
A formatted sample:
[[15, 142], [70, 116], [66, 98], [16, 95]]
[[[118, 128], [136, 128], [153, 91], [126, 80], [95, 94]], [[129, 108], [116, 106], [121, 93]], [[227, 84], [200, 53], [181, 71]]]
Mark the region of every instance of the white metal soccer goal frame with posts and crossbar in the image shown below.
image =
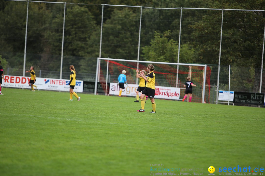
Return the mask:
[[[186, 66], [203, 66], [204, 67], [204, 75], [203, 75], [203, 90], [202, 90], [202, 103], [204, 103], [205, 97], [205, 83], [206, 83], [206, 72], [207, 72], [207, 65], [206, 64], [185, 64], [185, 63], [170, 63], [170, 62], [154, 62], [154, 61], [140, 61], [140, 60], [126, 60], [126, 59], [112, 59], [112, 58], [97, 58], [97, 68], [96, 68], [96, 79], [95, 79], [95, 92], [97, 94], [98, 88], [98, 76], [99, 76], [99, 69], [100, 69], [100, 61], [101, 60], [112, 60], [112, 61], [123, 61], [123, 62], [136, 62], [136, 63], [149, 63], [149, 64], [168, 64], [168, 65], [186, 65]], [[107, 67], [107, 74], [108, 74], [108, 67]], [[106, 81], [107, 82], [107, 81]]]

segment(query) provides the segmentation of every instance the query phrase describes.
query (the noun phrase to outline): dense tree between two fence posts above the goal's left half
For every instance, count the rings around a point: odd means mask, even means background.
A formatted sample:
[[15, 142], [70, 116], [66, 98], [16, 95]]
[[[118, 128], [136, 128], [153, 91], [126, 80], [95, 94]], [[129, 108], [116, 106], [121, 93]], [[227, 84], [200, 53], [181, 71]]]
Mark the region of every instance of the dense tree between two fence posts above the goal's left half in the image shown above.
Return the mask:
[[121, 9], [114, 9], [111, 18], [103, 25], [102, 57], [136, 60], [139, 11], [134, 13], [131, 8]]

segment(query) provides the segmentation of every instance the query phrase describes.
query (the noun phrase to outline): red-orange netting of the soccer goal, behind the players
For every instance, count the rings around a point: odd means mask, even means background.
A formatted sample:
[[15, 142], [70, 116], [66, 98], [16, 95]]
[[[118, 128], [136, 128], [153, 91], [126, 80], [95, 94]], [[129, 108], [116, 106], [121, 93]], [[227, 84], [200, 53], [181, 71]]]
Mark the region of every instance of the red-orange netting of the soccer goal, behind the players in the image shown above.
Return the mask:
[[122, 70], [125, 70], [128, 85], [125, 84], [122, 96], [135, 97], [139, 84], [139, 78], [136, 78], [136, 69], [147, 71], [148, 64], [154, 65], [155, 98], [182, 100], [185, 95], [185, 78], [190, 76], [193, 84], [197, 85], [197, 87], [193, 87], [192, 102], [203, 103], [205, 101], [209, 103], [211, 69], [204, 64], [98, 58], [95, 94], [118, 95], [118, 76]]

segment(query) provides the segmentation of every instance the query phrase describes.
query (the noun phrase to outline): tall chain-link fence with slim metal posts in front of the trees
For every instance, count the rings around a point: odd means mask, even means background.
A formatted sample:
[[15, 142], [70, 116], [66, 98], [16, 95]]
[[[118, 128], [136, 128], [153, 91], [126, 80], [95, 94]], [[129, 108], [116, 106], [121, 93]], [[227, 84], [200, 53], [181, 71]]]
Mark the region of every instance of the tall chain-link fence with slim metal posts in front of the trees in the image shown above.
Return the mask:
[[[9, 75], [35, 66], [38, 77], [62, 79], [74, 65], [77, 79], [87, 81], [95, 81], [97, 57], [207, 64], [206, 99], [216, 103], [217, 89], [228, 90], [230, 63], [231, 91], [260, 92], [261, 86], [265, 93], [264, 12], [1, 1], [1, 64]], [[182, 77], [176, 75], [176, 86]]]

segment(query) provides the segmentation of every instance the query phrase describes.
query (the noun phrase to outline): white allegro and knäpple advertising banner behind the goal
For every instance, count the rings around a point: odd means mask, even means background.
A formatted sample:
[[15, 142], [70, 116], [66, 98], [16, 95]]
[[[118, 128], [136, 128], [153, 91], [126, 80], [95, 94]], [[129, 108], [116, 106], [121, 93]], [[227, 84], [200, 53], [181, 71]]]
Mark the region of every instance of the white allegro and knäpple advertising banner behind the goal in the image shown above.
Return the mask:
[[[121, 96], [132, 96], [136, 97], [136, 91], [138, 88], [137, 84], [124, 84], [125, 89], [122, 90]], [[120, 87], [118, 83], [110, 83], [109, 85], [109, 94], [110, 95], [119, 95]], [[140, 95], [141, 93], [139, 93]], [[176, 87], [163, 87], [156, 86], [156, 93], [154, 98], [162, 99], [174, 99], [179, 100], [180, 88]]]

